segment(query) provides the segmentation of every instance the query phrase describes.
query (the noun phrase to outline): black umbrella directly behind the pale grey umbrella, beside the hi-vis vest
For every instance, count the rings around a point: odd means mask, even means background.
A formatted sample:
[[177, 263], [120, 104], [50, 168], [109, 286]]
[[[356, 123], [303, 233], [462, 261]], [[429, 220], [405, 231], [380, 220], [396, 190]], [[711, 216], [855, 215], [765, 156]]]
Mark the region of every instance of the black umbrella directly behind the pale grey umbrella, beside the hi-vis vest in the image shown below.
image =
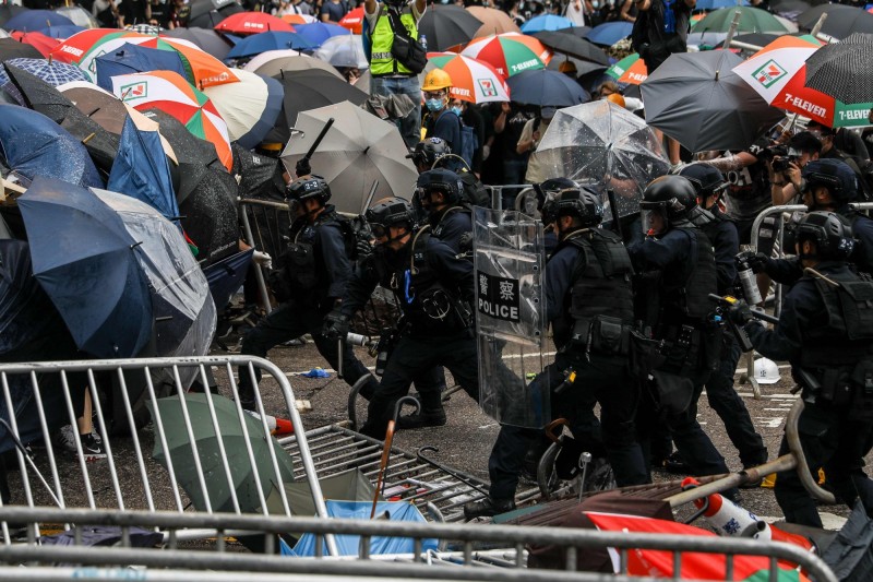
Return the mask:
[[288, 126], [297, 122], [300, 111], [318, 109], [345, 100], [360, 105], [369, 95], [326, 71], [282, 71], [274, 76], [285, 86], [285, 118]]

